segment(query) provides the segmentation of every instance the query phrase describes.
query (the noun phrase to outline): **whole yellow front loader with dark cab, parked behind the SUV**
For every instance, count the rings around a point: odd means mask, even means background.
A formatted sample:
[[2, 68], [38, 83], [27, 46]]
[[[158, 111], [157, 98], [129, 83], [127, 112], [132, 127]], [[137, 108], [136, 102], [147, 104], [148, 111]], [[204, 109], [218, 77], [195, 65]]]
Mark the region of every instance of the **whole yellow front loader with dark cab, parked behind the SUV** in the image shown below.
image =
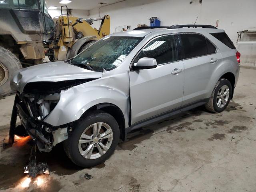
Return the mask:
[[[10, 80], [20, 68], [41, 64], [45, 56], [50, 61], [72, 58], [110, 32], [108, 15], [84, 20], [62, 6], [67, 14], [54, 21], [45, 0], [16, 2], [0, 0], [0, 96], [12, 93]], [[91, 26], [97, 20], [101, 20], [98, 30]]]

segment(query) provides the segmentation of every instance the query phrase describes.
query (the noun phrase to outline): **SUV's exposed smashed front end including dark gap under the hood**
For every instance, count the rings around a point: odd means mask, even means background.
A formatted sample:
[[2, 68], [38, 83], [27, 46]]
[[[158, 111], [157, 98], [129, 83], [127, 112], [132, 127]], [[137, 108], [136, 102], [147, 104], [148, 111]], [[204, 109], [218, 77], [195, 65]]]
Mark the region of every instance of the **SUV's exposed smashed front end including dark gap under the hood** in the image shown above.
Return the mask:
[[[61, 126], [52, 126], [44, 122], [55, 108], [62, 91], [89, 80], [69, 80], [61, 82], [31, 82], [26, 84], [22, 93], [17, 92], [10, 124], [9, 144], [14, 142], [16, 132], [24, 128], [36, 142], [38, 149], [50, 152], [56, 144], [68, 139], [68, 131], [74, 122]], [[16, 127], [16, 117], [22, 126]]]

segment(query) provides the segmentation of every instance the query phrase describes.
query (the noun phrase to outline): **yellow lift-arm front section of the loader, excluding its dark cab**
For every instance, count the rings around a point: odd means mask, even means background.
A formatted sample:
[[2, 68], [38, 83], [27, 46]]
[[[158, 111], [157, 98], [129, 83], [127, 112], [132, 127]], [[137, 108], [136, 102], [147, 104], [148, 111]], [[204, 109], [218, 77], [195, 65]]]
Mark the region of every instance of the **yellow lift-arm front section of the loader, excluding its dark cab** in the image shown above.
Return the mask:
[[[62, 13], [66, 7], [67, 14]], [[68, 14], [67, 6], [61, 7], [61, 15], [56, 20], [56, 33], [52, 40], [45, 43], [45, 55], [50, 61], [66, 60], [110, 33], [110, 16], [82, 19]], [[101, 20], [100, 28], [92, 28], [94, 21]]]

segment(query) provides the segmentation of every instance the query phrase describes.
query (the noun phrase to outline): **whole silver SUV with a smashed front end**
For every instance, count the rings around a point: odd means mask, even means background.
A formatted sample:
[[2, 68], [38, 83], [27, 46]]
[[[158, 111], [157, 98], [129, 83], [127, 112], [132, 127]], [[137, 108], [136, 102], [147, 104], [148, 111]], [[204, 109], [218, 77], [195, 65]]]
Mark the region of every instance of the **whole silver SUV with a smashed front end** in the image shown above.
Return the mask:
[[64, 141], [75, 164], [95, 166], [131, 130], [201, 105], [222, 112], [232, 99], [239, 62], [230, 38], [214, 26], [108, 35], [70, 60], [14, 75], [9, 141], [24, 129], [40, 151]]

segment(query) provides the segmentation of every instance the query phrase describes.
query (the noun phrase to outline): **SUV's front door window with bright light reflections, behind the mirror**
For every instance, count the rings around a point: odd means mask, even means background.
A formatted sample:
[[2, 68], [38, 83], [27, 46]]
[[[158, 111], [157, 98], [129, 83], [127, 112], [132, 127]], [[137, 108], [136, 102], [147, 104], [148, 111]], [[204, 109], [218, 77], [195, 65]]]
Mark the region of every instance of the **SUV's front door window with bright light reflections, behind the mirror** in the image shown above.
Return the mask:
[[152, 40], [142, 49], [134, 62], [138, 62], [138, 60], [143, 57], [154, 58], [157, 64], [176, 61], [177, 53], [174, 35], [163, 36]]

